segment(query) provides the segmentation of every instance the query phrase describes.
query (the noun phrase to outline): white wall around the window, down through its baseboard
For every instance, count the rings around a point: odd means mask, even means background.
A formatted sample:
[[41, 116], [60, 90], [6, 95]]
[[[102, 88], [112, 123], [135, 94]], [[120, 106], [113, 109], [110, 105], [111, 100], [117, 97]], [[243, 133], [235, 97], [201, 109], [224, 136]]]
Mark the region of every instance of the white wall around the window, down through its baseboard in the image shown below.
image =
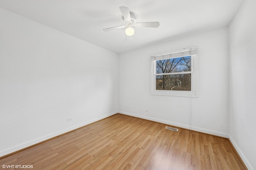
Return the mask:
[[192, 129], [228, 137], [227, 27], [120, 54], [119, 112], [189, 129], [189, 98], [150, 95], [150, 55], [193, 46], [198, 47], [199, 74]]

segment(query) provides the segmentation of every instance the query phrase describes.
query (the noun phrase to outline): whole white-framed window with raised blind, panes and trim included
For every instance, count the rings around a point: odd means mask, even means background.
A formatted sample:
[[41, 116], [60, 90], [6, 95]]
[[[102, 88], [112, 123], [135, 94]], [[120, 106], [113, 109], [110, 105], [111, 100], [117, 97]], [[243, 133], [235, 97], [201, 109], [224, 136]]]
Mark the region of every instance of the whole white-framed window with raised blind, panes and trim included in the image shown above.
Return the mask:
[[196, 48], [151, 57], [151, 94], [197, 97]]

